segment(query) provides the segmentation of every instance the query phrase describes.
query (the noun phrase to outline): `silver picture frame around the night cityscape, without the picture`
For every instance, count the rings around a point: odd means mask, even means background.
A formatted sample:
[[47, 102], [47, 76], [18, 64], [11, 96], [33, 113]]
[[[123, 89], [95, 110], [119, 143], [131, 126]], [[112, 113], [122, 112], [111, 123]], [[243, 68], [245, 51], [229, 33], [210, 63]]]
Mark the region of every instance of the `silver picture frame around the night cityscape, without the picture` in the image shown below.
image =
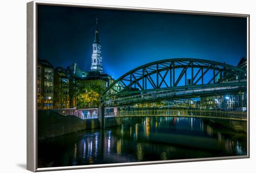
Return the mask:
[[[161, 13], [186, 13], [199, 15], [214, 15], [214, 16], [229, 16], [241, 17], [247, 19], [247, 93], [248, 93], [248, 111], [247, 111], [247, 155], [230, 156], [230, 157], [212, 157], [200, 159], [182, 159], [182, 160], [165, 160], [165, 161], [145, 161], [132, 163], [114, 163], [101, 165], [85, 165], [85, 166], [63, 166], [63, 167], [37, 167], [37, 6], [67, 6], [67, 7], [87, 7], [87, 8], [104, 8], [118, 10], [133, 10], [133, 11], [149, 11]], [[100, 168], [113, 166], [135, 166], [148, 164], [163, 164], [191, 161], [206, 161], [206, 160], [228, 160], [228, 159], [243, 159], [249, 158], [249, 14], [236, 13], [214, 13], [214, 12], [199, 12], [185, 11], [172, 9], [156, 9], [143, 7], [119, 7], [93, 4], [78, 4], [78, 3], [62, 3], [48, 1], [31, 1], [27, 3], [27, 170], [32, 172], [54, 171], [54, 170], [70, 170], [70, 169], [85, 169], [85, 168]]]

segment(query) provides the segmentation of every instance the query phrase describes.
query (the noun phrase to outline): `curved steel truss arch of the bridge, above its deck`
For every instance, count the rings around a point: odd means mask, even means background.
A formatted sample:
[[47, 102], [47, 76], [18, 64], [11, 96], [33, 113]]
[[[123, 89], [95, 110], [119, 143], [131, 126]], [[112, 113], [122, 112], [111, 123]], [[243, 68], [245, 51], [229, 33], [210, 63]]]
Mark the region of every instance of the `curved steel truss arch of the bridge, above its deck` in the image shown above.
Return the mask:
[[212, 60], [159, 60], [125, 73], [101, 94], [101, 98], [174, 89], [246, 87], [246, 75], [247, 71], [244, 69]]

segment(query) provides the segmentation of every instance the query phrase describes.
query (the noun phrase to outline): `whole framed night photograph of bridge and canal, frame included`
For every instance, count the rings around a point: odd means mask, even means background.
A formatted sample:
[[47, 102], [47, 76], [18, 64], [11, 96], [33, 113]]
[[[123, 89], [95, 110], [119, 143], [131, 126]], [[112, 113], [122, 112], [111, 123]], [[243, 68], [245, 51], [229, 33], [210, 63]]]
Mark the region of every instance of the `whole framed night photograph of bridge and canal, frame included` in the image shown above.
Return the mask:
[[249, 158], [249, 15], [27, 3], [27, 169]]

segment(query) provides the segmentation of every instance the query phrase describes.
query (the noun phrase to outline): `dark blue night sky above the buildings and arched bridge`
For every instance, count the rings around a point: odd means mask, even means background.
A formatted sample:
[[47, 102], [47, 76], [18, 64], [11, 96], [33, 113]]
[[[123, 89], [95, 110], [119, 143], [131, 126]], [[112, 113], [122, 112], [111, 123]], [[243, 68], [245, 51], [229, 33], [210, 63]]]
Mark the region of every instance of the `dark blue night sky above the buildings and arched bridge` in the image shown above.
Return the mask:
[[156, 60], [199, 58], [236, 66], [246, 57], [246, 18], [40, 5], [38, 58], [54, 67], [75, 62], [89, 71], [96, 17], [103, 71], [115, 79]]

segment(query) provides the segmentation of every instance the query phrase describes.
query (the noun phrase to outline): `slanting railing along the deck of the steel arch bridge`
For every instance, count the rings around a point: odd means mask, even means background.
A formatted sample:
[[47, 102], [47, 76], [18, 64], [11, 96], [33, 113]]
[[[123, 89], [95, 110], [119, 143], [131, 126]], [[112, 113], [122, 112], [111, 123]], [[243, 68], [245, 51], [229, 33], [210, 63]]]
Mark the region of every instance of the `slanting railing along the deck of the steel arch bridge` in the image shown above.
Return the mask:
[[142, 93], [138, 95], [132, 95], [128, 97], [121, 97], [117, 99], [110, 99], [105, 101], [106, 106], [111, 105], [123, 105], [123, 104], [131, 104], [134, 102], [146, 101], [146, 100], [155, 100], [157, 98], [164, 97], [175, 97], [178, 95], [185, 95], [187, 93], [204, 93], [210, 91], [218, 91], [218, 90], [229, 90], [229, 89], [237, 89], [239, 87], [209, 87], [209, 88], [190, 88], [186, 90], [165, 90], [165, 91], [155, 91], [150, 93]]

